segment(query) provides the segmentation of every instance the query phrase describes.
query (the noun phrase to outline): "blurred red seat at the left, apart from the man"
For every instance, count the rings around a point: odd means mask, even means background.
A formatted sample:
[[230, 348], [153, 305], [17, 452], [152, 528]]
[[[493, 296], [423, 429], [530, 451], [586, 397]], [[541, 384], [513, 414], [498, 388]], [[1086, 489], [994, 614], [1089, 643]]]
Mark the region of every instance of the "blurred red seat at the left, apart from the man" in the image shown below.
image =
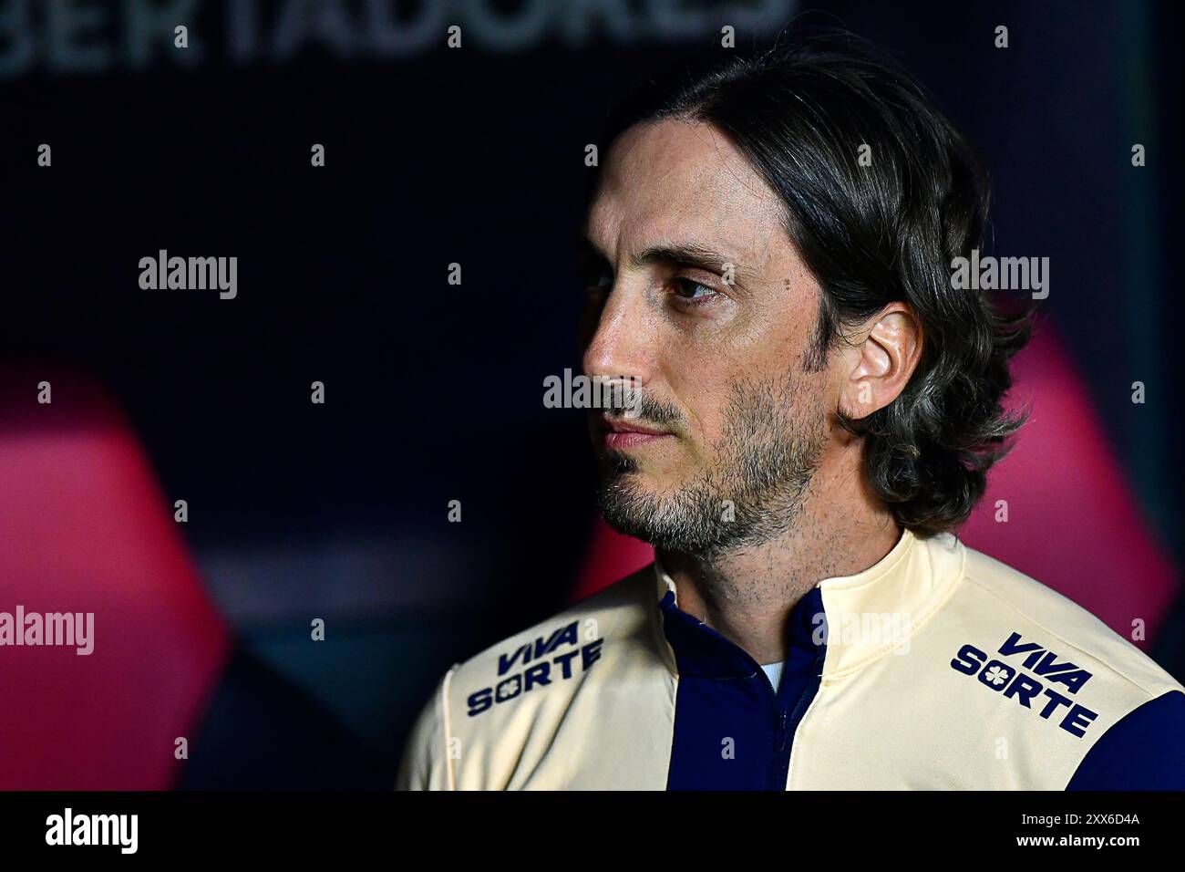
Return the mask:
[[230, 638], [172, 502], [91, 381], [0, 375], [0, 612], [95, 616], [90, 655], [0, 645], [0, 789], [174, 785], [175, 741], [194, 740]]

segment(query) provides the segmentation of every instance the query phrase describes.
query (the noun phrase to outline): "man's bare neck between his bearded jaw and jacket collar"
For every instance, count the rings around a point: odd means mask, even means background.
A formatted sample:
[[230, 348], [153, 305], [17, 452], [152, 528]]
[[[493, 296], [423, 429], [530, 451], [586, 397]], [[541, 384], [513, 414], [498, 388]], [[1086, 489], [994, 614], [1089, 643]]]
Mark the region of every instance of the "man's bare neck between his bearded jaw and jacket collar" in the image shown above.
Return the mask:
[[[853, 488], [853, 482], [861, 483]], [[826, 578], [852, 575], [901, 537], [892, 513], [863, 476], [820, 469], [799, 513], [776, 539], [713, 554], [660, 552], [679, 607], [743, 648], [758, 663], [786, 660], [794, 605]]]

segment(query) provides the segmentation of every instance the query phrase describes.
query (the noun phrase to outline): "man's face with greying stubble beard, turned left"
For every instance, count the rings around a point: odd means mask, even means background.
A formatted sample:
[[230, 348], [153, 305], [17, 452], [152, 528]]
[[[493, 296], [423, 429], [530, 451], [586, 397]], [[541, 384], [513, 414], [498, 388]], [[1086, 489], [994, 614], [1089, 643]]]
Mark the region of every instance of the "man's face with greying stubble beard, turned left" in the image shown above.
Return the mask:
[[660, 548], [776, 536], [824, 457], [835, 377], [805, 363], [819, 288], [779, 203], [715, 128], [668, 120], [616, 140], [589, 210], [584, 373], [641, 399], [590, 416], [600, 504]]

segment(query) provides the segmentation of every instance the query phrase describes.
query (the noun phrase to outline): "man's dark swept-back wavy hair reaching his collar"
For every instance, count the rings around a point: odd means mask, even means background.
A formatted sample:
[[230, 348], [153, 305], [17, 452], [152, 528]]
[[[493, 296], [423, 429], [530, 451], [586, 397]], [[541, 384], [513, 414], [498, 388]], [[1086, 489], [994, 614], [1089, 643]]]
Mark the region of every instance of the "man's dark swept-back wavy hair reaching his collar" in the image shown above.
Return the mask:
[[922, 355], [905, 389], [865, 418], [837, 414], [864, 438], [867, 480], [903, 527], [928, 536], [961, 523], [1024, 420], [1000, 400], [1032, 316], [952, 286], [953, 259], [981, 246], [987, 221], [987, 177], [967, 142], [896, 62], [834, 31], [651, 79], [602, 141], [664, 119], [723, 132], [781, 197], [822, 292], [809, 369], [886, 304], [912, 307]]

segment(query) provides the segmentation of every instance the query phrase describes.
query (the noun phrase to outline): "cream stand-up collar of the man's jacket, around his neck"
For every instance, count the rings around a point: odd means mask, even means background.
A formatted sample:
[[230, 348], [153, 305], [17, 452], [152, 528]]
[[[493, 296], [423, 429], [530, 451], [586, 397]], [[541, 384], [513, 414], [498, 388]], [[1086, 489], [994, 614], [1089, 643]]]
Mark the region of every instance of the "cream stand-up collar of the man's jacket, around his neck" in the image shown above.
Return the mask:
[[[914, 635], [962, 577], [965, 559], [963, 545], [950, 533], [922, 539], [904, 529], [890, 552], [867, 569], [820, 581], [818, 593], [812, 590], [808, 597], [816, 602], [821, 596], [826, 615], [824, 682], [861, 669], [890, 651], [908, 653]], [[659, 622], [664, 660], [678, 674], [674, 650], [662, 630], [664, 612], [677, 607], [678, 592], [658, 555], [654, 575], [659, 606], [653, 618]]]

